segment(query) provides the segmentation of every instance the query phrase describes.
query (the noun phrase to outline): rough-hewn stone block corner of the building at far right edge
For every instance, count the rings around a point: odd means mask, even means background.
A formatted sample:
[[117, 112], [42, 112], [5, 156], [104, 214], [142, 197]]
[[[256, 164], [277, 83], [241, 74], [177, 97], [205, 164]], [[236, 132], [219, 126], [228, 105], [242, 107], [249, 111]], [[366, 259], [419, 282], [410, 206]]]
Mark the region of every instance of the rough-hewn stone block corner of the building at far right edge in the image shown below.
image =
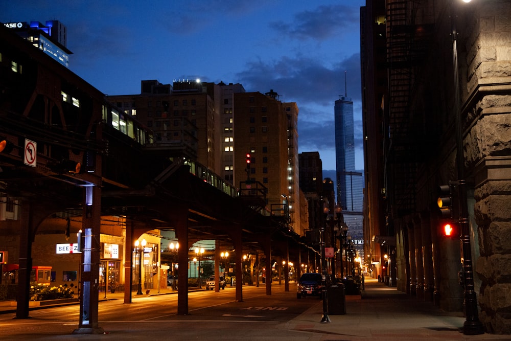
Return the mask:
[[464, 156], [475, 185], [479, 317], [487, 332], [511, 334], [511, 3], [479, 2], [468, 14]]

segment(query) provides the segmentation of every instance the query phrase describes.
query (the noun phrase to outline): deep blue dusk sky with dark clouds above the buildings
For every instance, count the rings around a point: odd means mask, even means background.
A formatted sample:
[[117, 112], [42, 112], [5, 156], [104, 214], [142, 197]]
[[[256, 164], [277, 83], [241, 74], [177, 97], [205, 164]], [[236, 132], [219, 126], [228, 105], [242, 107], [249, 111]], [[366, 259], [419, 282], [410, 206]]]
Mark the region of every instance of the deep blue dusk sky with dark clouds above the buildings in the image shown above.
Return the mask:
[[[364, 0], [0, 0], [0, 21], [59, 20], [69, 69], [107, 95], [140, 81], [200, 78], [273, 89], [296, 102], [299, 152], [335, 169], [334, 101], [354, 102], [356, 168], [363, 168], [360, 7]], [[344, 75], [347, 75], [347, 88]]]

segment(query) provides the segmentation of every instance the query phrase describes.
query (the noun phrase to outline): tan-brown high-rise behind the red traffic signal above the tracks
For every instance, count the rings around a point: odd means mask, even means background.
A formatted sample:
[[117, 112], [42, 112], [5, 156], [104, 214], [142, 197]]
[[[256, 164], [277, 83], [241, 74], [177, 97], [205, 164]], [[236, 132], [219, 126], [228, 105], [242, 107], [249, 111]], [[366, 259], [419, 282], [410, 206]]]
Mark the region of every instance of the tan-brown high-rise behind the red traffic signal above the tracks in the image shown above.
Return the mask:
[[247, 179], [262, 183], [268, 189], [268, 207], [288, 203], [290, 224], [303, 235], [298, 210], [297, 116], [296, 103], [282, 103], [273, 90], [234, 94], [235, 186]]

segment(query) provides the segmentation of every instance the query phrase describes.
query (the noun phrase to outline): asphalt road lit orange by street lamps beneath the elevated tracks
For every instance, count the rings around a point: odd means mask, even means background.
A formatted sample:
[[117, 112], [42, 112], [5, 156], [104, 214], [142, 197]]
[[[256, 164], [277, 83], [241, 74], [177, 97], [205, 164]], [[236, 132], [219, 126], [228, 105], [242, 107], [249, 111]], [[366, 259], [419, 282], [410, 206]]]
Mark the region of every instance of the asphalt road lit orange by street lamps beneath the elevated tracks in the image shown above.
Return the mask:
[[292, 335], [280, 326], [319, 301], [314, 297], [297, 300], [294, 285], [288, 292], [281, 285], [272, 287], [272, 295], [266, 295], [264, 287], [244, 287], [243, 302], [236, 302], [235, 289], [227, 287], [220, 292], [190, 292], [189, 314], [177, 315], [177, 294], [133, 297], [131, 304], [122, 300], [99, 303], [99, 327], [104, 334], [73, 334], [78, 328], [79, 306], [72, 305], [32, 310], [27, 320], [0, 315], [0, 339], [246, 340], [275, 339], [279, 334], [289, 339]]

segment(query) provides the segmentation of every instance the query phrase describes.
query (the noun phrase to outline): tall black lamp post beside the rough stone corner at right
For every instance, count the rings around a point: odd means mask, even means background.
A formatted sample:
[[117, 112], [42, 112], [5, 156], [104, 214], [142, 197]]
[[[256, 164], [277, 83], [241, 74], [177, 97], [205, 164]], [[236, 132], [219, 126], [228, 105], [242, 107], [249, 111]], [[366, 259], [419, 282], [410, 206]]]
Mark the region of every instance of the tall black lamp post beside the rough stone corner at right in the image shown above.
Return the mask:
[[[470, 2], [470, 0], [463, 0]], [[458, 50], [456, 20], [454, 4], [451, 4], [451, 25], [452, 25], [452, 61], [454, 76], [454, 115], [456, 128], [456, 168], [458, 175], [458, 196], [459, 196], [459, 224], [461, 230], [461, 249], [463, 257], [463, 278], [464, 278], [464, 302], [466, 321], [463, 323], [463, 334], [479, 335], [484, 333], [482, 323], [479, 321], [477, 312], [477, 299], [474, 290], [474, 272], [472, 268], [472, 248], [470, 245], [470, 224], [469, 210], [467, 203], [467, 189], [464, 170], [463, 137], [460, 107], [460, 86], [458, 74]]]

